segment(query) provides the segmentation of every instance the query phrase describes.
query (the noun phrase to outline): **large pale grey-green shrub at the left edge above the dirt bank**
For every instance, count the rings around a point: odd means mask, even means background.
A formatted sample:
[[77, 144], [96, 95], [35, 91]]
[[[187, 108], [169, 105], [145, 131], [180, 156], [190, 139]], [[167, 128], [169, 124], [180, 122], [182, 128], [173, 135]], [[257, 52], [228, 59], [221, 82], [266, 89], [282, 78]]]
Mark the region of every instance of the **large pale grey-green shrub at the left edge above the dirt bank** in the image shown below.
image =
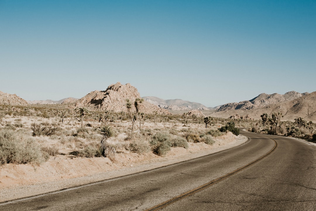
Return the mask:
[[12, 130], [0, 130], [0, 165], [36, 164], [48, 160], [48, 154], [41, 151], [33, 139]]

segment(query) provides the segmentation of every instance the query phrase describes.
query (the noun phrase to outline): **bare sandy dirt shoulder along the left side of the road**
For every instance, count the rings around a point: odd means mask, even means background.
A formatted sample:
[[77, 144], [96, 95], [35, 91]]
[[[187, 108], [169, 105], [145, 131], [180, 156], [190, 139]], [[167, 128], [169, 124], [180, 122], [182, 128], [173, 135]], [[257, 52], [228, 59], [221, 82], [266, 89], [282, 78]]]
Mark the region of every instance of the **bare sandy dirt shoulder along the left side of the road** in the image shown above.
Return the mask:
[[0, 166], [0, 202], [167, 166], [232, 148], [247, 140], [228, 132], [213, 145], [189, 143], [188, 149], [172, 148], [163, 157], [152, 153], [121, 153], [113, 161], [54, 157], [40, 166], [6, 164]]

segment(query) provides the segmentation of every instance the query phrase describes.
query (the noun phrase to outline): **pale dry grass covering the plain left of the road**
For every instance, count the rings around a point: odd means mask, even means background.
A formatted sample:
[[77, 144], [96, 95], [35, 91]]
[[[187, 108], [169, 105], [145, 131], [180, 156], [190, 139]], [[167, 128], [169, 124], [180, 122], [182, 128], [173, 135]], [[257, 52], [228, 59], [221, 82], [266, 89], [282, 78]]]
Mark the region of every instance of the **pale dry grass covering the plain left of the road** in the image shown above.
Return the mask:
[[[61, 118], [57, 115], [54, 116], [54, 112], [50, 113], [49, 110], [42, 111], [41, 115], [39, 115], [40, 109], [38, 108], [38, 111], [35, 109], [36, 112], [28, 116], [3, 116], [0, 122], [0, 130], [7, 129], [23, 133], [25, 137], [38, 143], [42, 151], [51, 157], [61, 158], [64, 156], [65, 158], [69, 158], [80, 156], [80, 154], [84, 157], [91, 157], [94, 154], [93, 150], [100, 147], [102, 136], [98, 133], [97, 128], [104, 123], [92, 117], [86, 118], [86, 126], [82, 128], [80, 119], [78, 118], [74, 118], [71, 121], [70, 117], [64, 118], [64, 122], [62, 123]], [[217, 131], [218, 126], [221, 125], [214, 124], [206, 129], [203, 124], [190, 121], [184, 127], [183, 122], [179, 122], [177, 118], [165, 118], [166, 120], [168, 122], [156, 120], [154, 124], [153, 119], [147, 119], [142, 124], [142, 130], [137, 130], [138, 123], [135, 125], [133, 136], [130, 134], [131, 121], [129, 119], [106, 122], [115, 132], [115, 136], [109, 138], [107, 142], [115, 147], [116, 153], [130, 153], [134, 151], [143, 154], [147, 152], [146, 143], [150, 142], [152, 137], [157, 133], [164, 132], [170, 135], [170, 140], [176, 140], [172, 145], [173, 147], [187, 148], [186, 143], [183, 141], [184, 139], [195, 143], [205, 141], [205, 138], [201, 139], [201, 137], [205, 136], [205, 134], [208, 136], [211, 135], [210, 131]], [[34, 125], [41, 125], [47, 128], [54, 127], [58, 128], [58, 130], [54, 131], [50, 136], [46, 136], [45, 133], [38, 133], [37, 136], [32, 136], [32, 125], [33, 127]]]

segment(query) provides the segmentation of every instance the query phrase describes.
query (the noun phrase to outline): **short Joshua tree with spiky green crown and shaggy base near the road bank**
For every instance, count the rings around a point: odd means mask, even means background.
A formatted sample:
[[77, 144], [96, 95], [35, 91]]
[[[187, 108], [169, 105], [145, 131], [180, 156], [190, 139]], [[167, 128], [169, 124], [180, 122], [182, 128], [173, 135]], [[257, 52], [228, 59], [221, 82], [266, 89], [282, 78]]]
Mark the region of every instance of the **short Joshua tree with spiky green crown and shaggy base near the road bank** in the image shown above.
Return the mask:
[[98, 128], [98, 132], [102, 135], [100, 148], [97, 150], [97, 155], [102, 157], [114, 158], [115, 148], [111, 146], [106, 140], [115, 135], [114, 131], [109, 125], [103, 125]]

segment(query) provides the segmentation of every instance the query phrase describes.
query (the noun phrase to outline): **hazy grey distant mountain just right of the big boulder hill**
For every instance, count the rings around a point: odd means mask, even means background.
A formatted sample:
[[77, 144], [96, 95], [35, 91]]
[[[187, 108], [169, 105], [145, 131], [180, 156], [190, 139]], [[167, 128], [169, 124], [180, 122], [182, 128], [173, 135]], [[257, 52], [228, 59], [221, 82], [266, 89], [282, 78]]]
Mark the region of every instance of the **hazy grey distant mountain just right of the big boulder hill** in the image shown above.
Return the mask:
[[196, 102], [185, 101], [182, 99], [161, 99], [158, 97], [143, 97], [147, 102], [157, 105], [160, 108], [171, 111], [188, 111], [188, 110], [209, 110], [205, 105]]

